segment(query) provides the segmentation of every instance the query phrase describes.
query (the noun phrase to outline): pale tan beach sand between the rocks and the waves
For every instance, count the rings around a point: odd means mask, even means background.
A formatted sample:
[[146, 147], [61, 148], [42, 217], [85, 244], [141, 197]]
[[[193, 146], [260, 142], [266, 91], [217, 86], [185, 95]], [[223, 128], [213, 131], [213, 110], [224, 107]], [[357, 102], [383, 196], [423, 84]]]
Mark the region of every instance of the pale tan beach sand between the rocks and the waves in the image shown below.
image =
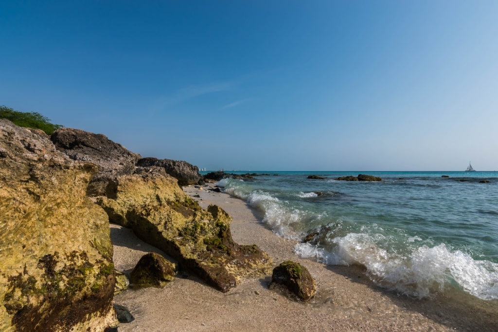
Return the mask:
[[[233, 238], [257, 244], [275, 266], [284, 260], [308, 268], [317, 282], [317, 296], [296, 302], [268, 289], [271, 276], [245, 280], [221, 293], [199, 279], [178, 276], [164, 289], [128, 290], [115, 303], [129, 309], [135, 320], [121, 324], [127, 331], [497, 331], [496, 301], [470, 296], [438, 296], [416, 300], [373, 285], [360, 267], [326, 266], [293, 254], [294, 241], [278, 237], [260, 223], [245, 202], [208, 187], [184, 188], [206, 208], [216, 204], [232, 217]], [[136, 238], [126, 228], [111, 225], [114, 262], [130, 272], [145, 253], [160, 250]], [[167, 256], [166, 256], [167, 257]], [[469, 301], [472, 302], [469, 305]]]

